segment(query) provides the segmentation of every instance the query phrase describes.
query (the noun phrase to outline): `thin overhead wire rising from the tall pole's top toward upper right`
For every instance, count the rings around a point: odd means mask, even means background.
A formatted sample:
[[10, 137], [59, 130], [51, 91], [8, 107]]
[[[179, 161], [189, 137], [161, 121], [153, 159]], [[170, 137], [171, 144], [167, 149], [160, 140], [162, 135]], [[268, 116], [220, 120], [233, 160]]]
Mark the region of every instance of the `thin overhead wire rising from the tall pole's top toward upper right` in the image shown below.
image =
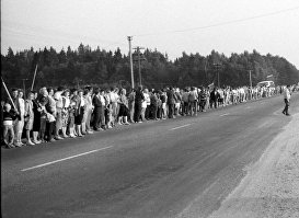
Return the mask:
[[298, 9], [299, 9], [299, 7], [295, 7], [295, 8], [290, 8], [290, 9], [279, 10], [279, 11], [264, 13], [264, 14], [260, 14], [260, 15], [255, 15], [255, 16], [249, 16], [249, 18], [244, 18], [244, 19], [237, 19], [237, 20], [232, 20], [232, 21], [215, 23], [215, 24], [205, 25], [205, 26], [175, 30], [175, 31], [166, 31], [166, 32], [147, 33], [147, 34], [139, 34], [139, 35], [134, 35], [134, 36], [142, 37], [142, 36], [151, 36], [151, 35], [164, 35], [164, 34], [199, 31], [199, 30], [211, 28], [211, 27], [217, 27], [217, 26], [222, 26], [222, 25], [229, 25], [229, 24], [233, 24], [233, 23], [241, 23], [241, 22], [245, 22], [245, 21], [250, 21], [250, 20], [256, 20], [256, 19], [261, 19], [261, 18], [266, 18], [266, 16], [273, 16], [273, 15], [276, 15], [276, 14], [286, 13], [286, 12], [295, 11], [295, 10], [298, 10]]

